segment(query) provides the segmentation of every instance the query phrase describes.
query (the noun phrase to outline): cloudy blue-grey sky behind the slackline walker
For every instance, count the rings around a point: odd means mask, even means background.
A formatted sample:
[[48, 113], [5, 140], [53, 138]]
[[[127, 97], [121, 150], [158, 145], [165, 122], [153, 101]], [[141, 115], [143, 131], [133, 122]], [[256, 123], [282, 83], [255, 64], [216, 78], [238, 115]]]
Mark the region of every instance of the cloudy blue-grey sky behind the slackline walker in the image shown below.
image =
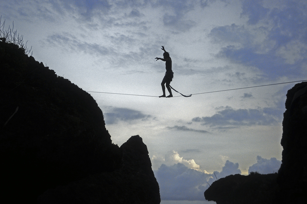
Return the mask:
[[[113, 143], [142, 137], [161, 203], [204, 201], [230, 174], [278, 171], [295, 83], [214, 91], [306, 80], [305, 0], [3, 0], [0, 15], [29, 55], [89, 91]], [[153, 97], [162, 45], [171, 86], [191, 97]]]

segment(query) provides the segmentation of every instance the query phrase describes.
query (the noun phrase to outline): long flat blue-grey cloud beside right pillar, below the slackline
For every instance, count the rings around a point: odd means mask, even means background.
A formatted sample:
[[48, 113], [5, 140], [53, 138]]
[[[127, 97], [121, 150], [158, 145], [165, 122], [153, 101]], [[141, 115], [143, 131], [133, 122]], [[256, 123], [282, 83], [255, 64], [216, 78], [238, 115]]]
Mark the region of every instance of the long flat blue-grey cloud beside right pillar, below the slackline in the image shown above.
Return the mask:
[[229, 106], [213, 116], [195, 117], [193, 122], [201, 122], [210, 127], [238, 127], [251, 125], [274, 125], [280, 122], [280, 110], [276, 108], [233, 109]]

